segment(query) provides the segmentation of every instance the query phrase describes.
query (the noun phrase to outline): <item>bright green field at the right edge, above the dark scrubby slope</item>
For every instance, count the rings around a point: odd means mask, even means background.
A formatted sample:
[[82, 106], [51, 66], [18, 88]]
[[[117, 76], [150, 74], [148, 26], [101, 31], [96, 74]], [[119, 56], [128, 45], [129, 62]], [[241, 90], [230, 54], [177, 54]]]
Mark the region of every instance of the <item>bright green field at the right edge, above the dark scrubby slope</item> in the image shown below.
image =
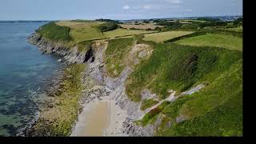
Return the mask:
[[192, 38], [184, 38], [176, 43], [190, 46], [215, 46], [229, 50], [242, 51], [242, 38], [227, 34], [206, 34]]

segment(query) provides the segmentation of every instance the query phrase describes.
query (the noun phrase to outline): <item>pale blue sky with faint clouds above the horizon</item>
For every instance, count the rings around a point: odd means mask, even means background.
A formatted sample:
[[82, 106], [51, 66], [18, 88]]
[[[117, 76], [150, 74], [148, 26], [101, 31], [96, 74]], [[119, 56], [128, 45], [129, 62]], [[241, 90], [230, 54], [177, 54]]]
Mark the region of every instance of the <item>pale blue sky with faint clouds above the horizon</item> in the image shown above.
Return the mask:
[[242, 0], [1, 0], [0, 20], [242, 15]]

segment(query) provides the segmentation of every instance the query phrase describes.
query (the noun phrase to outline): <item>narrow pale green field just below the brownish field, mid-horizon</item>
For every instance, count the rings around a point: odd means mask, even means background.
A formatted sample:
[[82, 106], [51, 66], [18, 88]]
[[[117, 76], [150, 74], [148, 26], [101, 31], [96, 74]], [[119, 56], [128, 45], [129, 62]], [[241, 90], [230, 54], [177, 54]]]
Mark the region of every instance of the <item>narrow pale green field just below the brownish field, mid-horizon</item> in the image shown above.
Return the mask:
[[154, 31], [146, 31], [146, 30], [127, 30], [127, 29], [116, 29], [116, 30], [111, 30], [104, 32], [103, 34], [105, 35], [106, 38], [116, 38], [116, 37], [121, 37], [121, 36], [126, 36], [126, 35], [135, 35], [135, 34], [147, 34], [147, 33], [152, 33]]

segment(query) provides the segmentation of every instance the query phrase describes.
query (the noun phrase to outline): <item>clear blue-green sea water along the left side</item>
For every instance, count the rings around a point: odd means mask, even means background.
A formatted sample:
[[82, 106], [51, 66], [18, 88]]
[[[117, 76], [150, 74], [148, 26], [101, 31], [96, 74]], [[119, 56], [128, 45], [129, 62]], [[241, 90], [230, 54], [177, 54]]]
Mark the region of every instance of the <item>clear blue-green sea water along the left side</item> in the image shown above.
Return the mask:
[[0, 22], [0, 136], [14, 136], [34, 118], [42, 87], [61, 70], [26, 38], [45, 22]]

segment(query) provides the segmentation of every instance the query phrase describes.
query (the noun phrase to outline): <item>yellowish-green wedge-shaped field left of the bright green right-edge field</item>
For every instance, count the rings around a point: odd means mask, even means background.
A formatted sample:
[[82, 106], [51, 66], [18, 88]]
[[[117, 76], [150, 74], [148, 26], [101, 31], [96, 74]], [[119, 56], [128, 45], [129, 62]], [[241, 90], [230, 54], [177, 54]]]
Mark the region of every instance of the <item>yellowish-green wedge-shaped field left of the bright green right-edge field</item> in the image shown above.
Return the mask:
[[191, 31], [167, 31], [162, 33], [155, 33], [155, 34], [145, 34], [145, 41], [154, 41], [154, 42], [164, 42], [166, 40], [180, 37], [186, 34], [192, 34]]

